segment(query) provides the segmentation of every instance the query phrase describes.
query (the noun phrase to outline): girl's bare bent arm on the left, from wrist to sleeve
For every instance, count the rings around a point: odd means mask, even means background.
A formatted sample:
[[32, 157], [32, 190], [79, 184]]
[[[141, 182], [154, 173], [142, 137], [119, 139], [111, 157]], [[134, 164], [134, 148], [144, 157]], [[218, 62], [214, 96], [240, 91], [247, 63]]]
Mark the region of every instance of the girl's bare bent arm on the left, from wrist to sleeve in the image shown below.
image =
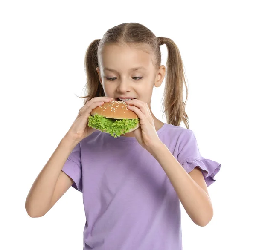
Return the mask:
[[30, 217], [44, 216], [73, 184], [74, 181], [61, 170], [76, 144], [66, 136], [62, 138], [35, 179], [25, 202]]

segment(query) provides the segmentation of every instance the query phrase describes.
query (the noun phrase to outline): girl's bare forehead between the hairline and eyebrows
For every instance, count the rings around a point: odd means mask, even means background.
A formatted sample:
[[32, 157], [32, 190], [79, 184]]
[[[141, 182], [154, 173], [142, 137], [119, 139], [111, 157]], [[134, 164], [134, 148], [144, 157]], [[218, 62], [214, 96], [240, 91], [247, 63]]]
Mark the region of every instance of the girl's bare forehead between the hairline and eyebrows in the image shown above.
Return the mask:
[[142, 47], [106, 45], [99, 55], [99, 64], [101, 69], [111, 68], [120, 72], [136, 67], [152, 69], [152, 55], [147, 51]]

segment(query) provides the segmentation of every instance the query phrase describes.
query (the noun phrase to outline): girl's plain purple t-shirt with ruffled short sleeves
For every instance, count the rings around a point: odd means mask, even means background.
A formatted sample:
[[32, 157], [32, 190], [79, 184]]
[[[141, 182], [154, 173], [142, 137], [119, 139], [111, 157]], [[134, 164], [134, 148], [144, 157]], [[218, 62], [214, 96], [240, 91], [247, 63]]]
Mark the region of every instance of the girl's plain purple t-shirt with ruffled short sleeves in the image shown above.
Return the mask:
[[[181, 166], [200, 167], [207, 186], [221, 164], [200, 155], [191, 129], [164, 124], [157, 134]], [[62, 169], [83, 195], [84, 250], [181, 250], [180, 200], [157, 160], [135, 137], [96, 131]]]

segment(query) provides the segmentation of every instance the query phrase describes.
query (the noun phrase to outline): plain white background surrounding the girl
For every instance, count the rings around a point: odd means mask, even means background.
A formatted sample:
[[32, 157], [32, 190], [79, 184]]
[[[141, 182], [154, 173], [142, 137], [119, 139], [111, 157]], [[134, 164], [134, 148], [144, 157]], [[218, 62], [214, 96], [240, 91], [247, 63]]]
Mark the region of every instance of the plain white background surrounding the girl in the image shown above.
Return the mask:
[[[255, 249], [252, 3], [1, 1], [0, 249], [82, 249], [85, 215], [80, 192], [70, 188], [41, 218], [27, 215], [25, 200], [83, 105], [76, 95], [84, 94], [89, 43], [128, 22], [142, 23], [157, 37], [177, 44], [189, 86], [189, 129], [195, 132], [201, 155], [221, 163], [216, 182], [208, 187], [212, 221], [198, 227], [182, 207], [183, 249]], [[167, 49], [160, 48], [165, 65]], [[151, 103], [163, 122], [164, 85], [154, 88]]]

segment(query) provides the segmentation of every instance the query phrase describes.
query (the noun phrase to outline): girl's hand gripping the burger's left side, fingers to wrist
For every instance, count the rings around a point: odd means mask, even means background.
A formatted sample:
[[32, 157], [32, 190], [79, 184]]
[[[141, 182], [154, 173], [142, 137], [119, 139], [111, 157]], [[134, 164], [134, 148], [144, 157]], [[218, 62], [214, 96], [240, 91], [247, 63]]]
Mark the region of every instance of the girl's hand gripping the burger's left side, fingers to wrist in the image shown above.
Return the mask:
[[69, 131], [65, 135], [66, 138], [70, 138], [73, 141], [79, 142], [85, 137], [91, 135], [96, 129], [88, 127], [88, 117], [93, 109], [106, 102], [112, 101], [113, 98], [106, 96], [94, 97], [88, 101], [81, 109], [76, 117], [76, 120], [73, 122]]

